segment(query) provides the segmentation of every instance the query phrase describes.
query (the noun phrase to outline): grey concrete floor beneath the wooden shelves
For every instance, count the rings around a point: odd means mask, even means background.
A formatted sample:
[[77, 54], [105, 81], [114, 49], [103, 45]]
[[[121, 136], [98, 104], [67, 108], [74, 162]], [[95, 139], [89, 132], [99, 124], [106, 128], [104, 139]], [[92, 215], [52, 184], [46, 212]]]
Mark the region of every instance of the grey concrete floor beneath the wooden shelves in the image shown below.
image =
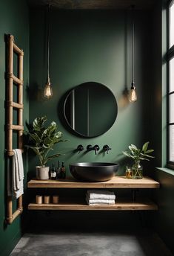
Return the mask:
[[24, 234], [10, 256], [172, 256], [150, 231]]

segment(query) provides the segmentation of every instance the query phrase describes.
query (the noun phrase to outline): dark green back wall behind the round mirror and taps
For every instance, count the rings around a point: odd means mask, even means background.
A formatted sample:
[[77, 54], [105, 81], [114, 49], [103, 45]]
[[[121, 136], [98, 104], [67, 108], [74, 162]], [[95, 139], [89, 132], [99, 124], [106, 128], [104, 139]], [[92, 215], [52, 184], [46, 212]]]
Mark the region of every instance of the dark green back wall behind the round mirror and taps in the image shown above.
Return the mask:
[[[131, 27], [129, 13], [124, 11], [58, 11], [51, 13], [50, 78], [53, 98], [43, 100], [41, 91], [47, 77], [45, 44], [45, 11], [30, 12], [30, 122], [40, 115], [58, 122], [68, 142], [58, 145], [64, 153], [59, 159], [68, 164], [76, 161], [118, 161], [124, 164], [121, 151], [130, 143], [141, 145], [150, 139], [150, 19], [148, 11], [135, 13], [135, 83], [138, 102], [124, 98], [131, 83]], [[63, 109], [59, 102], [67, 90], [87, 81], [103, 83], [113, 91], [118, 102], [118, 117], [104, 135], [80, 138], [61, 124]], [[101, 118], [107, 112], [101, 113]], [[78, 144], [109, 144], [108, 155], [94, 152], [73, 153]], [[127, 161], [127, 160], [126, 160]], [[31, 176], [35, 175], [36, 159], [30, 159]], [[121, 173], [121, 168], [119, 173]]]

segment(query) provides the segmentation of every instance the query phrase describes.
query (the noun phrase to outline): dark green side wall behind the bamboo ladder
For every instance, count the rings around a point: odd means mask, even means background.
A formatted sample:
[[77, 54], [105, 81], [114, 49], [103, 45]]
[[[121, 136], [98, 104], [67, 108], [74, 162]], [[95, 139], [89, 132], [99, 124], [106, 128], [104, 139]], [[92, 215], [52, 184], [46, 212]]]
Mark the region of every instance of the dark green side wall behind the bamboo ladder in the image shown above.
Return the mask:
[[[4, 157], [5, 149], [5, 42], [4, 34], [13, 34], [16, 44], [24, 50], [24, 122], [28, 120], [29, 108], [27, 99], [27, 86], [29, 81], [29, 22], [26, 1], [1, 1], [0, 8], [0, 254], [9, 255], [10, 251], [21, 237], [21, 217], [13, 224], [5, 225], [7, 159]], [[15, 146], [15, 145], [14, 145]], [[24, 161], [24, 170], [27, 170], [27, 161]], [[25, 175], [26, 179], [26, 175]], [[15, 202], [14, 202], [15, 206]], [[15, 208], [15, 207], [14, 207]]]

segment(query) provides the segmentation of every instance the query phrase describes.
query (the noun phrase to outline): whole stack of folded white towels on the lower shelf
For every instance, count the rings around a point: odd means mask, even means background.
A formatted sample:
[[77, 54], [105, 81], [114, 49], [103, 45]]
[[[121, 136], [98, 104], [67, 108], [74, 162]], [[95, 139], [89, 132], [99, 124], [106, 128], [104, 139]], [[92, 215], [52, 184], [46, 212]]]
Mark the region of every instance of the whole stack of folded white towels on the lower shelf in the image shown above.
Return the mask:
[[115, 205], [116, 196], [112, 191], [87, 191], [87, 205]]

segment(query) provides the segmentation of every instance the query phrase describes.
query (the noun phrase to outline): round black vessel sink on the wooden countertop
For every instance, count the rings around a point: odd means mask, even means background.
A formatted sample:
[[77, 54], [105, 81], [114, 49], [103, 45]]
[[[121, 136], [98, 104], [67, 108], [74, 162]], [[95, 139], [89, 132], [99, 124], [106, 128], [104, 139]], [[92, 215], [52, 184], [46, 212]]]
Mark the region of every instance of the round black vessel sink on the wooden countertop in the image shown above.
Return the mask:
[[118, 167], [115, 163], [75, 163], [70, 164], [70, 172], [81, 181], [106, 182], [115, 176]]

